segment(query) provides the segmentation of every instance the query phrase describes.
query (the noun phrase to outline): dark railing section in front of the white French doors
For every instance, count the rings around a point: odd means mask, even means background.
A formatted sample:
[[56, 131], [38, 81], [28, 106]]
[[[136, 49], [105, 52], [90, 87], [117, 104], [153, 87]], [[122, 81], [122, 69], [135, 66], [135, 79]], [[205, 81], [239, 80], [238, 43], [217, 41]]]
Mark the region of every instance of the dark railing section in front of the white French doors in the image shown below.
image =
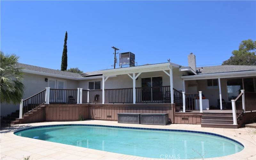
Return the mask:
[[49, 103], [68, 103], [77, 102], [77, 89], [50, 89]]

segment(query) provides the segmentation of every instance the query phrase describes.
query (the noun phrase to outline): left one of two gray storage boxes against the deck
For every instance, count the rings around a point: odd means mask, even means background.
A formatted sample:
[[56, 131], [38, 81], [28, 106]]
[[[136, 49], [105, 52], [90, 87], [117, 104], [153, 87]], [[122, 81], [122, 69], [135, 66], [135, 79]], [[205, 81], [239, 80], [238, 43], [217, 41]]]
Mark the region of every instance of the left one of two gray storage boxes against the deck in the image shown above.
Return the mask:
[[140, 124], [141, 113], [117, 113], [118, 123]]

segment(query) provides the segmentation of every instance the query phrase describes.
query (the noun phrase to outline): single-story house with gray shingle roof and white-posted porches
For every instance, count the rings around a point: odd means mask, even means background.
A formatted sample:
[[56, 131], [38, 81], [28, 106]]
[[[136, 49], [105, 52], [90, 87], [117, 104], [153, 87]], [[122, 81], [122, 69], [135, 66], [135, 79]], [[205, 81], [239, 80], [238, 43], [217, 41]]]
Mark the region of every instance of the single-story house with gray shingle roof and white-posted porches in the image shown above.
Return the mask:
[[[256, 66], [196, 67], [196, 56], [193, 53], [188, 55], [187, 67], [172, 62], [135, 66], [135, 60], [131, 61], [124, 55], [122, 58], [126, 58], [127, 62], [119, 60], [120, 68], [82, 74], [19, 63], [19, 67], [23, 68], [23, 83], [26, 87], [23, 100], [42, 92], [45, 97], [40, 93], [39, 98], [43, 99], [46, 105], [123, 104], [131, 107], [136, 104], [175, 104], [177, 115], [211, 111], [216, 113], [222, 110], [232, 114], [231, 100], [241, 96], [241, 90], [248, 94], [256, 92]], [[135, 56], [133, 58], [135, 59]], [[34, 101], [38, 101], [38, 96]], [[30, 98], [23, 102], [23, 107], [27, 107], [23, 114], [39, 105], [38, 102], [32, 101]], [[31, 108], [31, 104], [34, 104], [34, 107]], [[20, 105], [1, 103], [1, 116], [19, 109]], [[187, 120], [186, 115], [180, 115], [180, 123], [186, 123], [185, 121], [190, 119]], [[200, 123], [203, 122], [193, 120], [193, 124]]]

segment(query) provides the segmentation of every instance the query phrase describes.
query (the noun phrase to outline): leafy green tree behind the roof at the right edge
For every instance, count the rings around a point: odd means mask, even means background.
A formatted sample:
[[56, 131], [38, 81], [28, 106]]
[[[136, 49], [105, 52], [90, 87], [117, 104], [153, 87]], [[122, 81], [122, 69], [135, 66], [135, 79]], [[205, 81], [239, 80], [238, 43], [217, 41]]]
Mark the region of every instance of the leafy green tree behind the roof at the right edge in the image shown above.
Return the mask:
[[256, 65], [256, 41], [251, 39], [240, 43], [238, 50], [232, 51], [232, 56], [222, 65]]

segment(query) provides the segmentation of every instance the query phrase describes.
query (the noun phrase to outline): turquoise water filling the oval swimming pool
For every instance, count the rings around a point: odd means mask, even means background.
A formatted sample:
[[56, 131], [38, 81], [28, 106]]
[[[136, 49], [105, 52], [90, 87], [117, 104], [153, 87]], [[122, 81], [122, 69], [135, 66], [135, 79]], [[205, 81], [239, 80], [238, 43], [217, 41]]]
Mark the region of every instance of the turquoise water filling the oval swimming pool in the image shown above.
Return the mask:
[[149, 158], [211, 158], [234, 154], [244, 148], [232, 140], [202, 133], [105, 126], [51, 126], [14, 134], [28, 138], [38, 136], [39, 140]]

